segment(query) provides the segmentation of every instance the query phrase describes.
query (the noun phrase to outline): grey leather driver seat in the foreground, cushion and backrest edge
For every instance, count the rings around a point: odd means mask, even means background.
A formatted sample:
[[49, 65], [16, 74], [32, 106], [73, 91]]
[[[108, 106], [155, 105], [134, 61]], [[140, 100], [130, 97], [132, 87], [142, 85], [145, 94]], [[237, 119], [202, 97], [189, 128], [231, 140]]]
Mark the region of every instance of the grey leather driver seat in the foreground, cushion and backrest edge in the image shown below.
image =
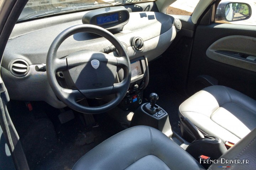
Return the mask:
[[[238, 170], [254, 169], [255, 152], [256, 129], [222, 157], [225, 159], [249, 159], [249, 164], [233, 164], [231, 166]], [[159, 130], [149, 126], [134, 126], [119, 132], [93, 148], [73, 167], [73, 170], [85, 169], [202, 170], [204, 168]], [[209, 169], [219, 169], [218, 164], [211, 165]]]

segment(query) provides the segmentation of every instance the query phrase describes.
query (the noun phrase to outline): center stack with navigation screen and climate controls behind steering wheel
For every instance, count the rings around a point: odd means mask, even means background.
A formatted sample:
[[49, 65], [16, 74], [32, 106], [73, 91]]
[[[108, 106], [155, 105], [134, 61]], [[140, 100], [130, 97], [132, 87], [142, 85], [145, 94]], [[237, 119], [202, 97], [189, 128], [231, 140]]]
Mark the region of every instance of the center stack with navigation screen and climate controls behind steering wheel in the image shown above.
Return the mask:
[[[147, 86], [149, 80], [148, 64], [144, 57], [131, 60], [130, 63], [132, 74], [131, 83], [126, 96], [119, 104], [119, 107], [123, 111], [136, 109], [140, 106], [140, 104], [142, 104], [143, 89]], [[122, 73], [118, 73], [118, 77], [121, 76]]]

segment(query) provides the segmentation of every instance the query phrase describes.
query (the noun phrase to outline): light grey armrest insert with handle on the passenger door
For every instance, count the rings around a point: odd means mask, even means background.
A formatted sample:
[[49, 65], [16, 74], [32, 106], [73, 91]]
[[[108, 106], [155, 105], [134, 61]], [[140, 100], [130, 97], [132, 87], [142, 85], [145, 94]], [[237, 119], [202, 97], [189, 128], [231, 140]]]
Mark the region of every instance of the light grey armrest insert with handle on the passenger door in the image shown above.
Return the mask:
[[256, 38], [231, 35], [215, 41], [206, 55], [212, 60], [256, 72], [255, 47]]

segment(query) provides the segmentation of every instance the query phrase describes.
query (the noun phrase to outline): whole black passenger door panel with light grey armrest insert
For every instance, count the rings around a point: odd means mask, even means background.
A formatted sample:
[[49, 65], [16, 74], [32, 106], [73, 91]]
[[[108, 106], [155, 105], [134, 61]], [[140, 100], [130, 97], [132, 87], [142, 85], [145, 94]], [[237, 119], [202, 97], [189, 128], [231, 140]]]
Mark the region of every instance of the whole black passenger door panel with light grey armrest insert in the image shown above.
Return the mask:
[[[207, 75], [224, 85], [256, 98], [253, 61], [230, 57], [220, 50], [256, 56], [256, 27], [213, 23], [196, 29], [188, 73], [189, 94], [198, 91], [196, 80]], [[217, 51], [217, 52], [216, 52]], [[203, 82], [202, 82], [203, 83]]]

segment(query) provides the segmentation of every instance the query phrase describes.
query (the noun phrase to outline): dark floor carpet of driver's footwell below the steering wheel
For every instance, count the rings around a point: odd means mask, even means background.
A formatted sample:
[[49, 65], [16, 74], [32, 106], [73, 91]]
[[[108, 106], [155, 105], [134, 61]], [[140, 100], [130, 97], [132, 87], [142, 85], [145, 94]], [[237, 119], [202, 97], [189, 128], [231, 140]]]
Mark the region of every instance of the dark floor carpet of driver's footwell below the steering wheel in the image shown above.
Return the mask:
[[74, 112], [75, 119], [61, 124], [59, 109], [45, 102], [31, 104], [31, 112], [25, 102], [8, 104], [31, 170], [71, 170], [84, 154], [119, 130], [104, 114], [98, 115], [96, 127], [86, 129], [80, 113]]

